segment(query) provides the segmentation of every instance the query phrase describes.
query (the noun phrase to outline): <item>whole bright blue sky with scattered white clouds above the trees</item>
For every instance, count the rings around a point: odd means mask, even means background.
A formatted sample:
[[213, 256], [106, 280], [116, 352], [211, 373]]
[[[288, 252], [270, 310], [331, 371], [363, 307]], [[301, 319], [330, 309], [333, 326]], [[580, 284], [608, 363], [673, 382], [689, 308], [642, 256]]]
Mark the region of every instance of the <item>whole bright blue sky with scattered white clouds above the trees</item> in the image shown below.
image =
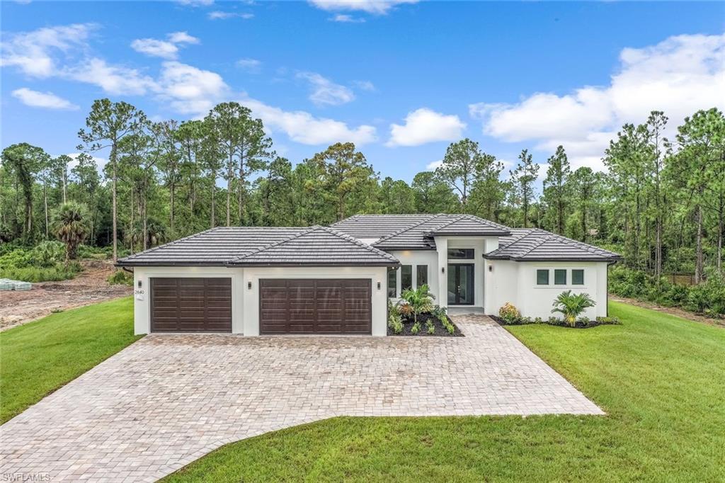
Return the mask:
[[1, 15], [2, 146], [51, 154], [76, 152], [100, 97], [178, 120], [237, 100], [292, 162], [351, 140], [406, 181], [464, 136], [507, 163], [563, 144], [601, 168], [622, 123], [725, 107], [720, 2], [4, 1]]

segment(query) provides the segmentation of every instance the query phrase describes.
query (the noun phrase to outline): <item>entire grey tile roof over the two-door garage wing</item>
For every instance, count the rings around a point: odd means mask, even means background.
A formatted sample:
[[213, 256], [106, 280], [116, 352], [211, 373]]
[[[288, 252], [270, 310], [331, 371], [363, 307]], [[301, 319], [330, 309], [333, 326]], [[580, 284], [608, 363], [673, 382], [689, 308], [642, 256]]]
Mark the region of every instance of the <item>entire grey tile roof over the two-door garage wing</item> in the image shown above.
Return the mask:
[[331, 228], [219, 227], [118, 260], [119, 266], [398, 265]]

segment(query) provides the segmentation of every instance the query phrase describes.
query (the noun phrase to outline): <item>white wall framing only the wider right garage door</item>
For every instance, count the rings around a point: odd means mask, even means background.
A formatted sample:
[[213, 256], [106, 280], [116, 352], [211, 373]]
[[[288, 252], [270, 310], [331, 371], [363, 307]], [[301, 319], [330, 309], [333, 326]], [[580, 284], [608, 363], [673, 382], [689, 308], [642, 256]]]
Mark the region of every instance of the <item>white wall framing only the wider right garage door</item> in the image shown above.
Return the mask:
[[[370, 278], [372, 281], [372, 329], [374, 336], [387, 334], [388, 298], [386, 294], [385, 267], [260, 267], [244, 268], [244, 280], [241, 284], [241, 293], [235, 293], [243, 301], [242, 319], [244, 320], [244, 335], [258, 336], [260, 334], [260, 278]], [[252, 288], [247, 284], [252, 282]], [[378, 282], [380, 288], [378, 289]]]

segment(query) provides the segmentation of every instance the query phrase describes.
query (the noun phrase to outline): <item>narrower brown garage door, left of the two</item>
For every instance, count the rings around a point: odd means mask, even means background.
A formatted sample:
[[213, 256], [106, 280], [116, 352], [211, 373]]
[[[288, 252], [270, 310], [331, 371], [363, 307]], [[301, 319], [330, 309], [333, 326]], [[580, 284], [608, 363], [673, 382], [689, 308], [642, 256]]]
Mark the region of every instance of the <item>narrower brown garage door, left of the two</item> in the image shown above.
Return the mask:
[[231, 278], [152, 278], [152, 332], [231, 332]]

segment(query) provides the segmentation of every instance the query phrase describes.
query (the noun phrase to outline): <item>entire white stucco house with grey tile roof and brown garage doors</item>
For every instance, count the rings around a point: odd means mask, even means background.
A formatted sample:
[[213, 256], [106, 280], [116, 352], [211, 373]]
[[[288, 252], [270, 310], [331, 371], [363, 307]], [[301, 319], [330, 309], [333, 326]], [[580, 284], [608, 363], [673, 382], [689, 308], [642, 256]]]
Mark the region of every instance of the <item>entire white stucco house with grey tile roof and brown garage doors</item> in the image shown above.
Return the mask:
[[607, 314], [616, 253], [473, 215], [355, 215], [329, 227], [212, 228], [118, 260], [149, 332], [386, 334], [387, 304], [428, 284], [436, 304], [548, 318], [565, 290]]

